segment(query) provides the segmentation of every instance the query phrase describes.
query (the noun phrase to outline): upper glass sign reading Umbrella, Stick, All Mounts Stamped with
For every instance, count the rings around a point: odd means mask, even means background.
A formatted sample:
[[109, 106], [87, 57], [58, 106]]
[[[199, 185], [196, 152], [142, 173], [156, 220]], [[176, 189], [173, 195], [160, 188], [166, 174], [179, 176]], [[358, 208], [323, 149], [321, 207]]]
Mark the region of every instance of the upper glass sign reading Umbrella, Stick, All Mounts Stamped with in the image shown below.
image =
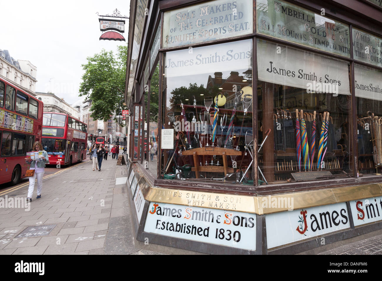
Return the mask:
[[283, 1], [256, 1], [257, 32], [350, 57], [346, 24]]

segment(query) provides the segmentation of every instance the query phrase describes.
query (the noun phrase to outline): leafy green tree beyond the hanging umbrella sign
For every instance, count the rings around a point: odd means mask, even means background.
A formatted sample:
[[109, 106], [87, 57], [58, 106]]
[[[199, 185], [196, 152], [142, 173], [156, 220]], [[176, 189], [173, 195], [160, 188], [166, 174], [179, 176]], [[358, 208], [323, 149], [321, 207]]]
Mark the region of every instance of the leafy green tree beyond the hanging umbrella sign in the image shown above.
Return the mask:
[[105, 49], [87, 57], [81, 65], [85, 71], [79, 87], [79, 96], [91, 99], [91, 117], [107, 121], [113, 112], [119, 113], [119, 102], [124, 98], [127, 45], [118, 46], [116, 55]]

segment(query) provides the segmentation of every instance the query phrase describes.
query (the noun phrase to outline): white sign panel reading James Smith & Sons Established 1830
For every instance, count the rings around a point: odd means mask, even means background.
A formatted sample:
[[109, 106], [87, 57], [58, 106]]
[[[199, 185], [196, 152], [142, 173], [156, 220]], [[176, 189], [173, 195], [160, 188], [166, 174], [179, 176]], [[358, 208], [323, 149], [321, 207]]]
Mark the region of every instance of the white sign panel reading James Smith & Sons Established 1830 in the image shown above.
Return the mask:
[[150, 202], [145, 232], [256, 250], [256, 215]]

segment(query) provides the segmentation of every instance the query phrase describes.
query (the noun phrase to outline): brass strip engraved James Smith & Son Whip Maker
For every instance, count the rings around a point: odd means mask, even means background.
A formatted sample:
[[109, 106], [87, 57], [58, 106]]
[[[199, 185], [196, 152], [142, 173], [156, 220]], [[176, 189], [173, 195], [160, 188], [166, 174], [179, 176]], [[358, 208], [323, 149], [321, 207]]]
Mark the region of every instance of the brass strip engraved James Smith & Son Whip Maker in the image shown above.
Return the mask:
[[255, 213], [254, 197], [154, 187], [147, 201]]

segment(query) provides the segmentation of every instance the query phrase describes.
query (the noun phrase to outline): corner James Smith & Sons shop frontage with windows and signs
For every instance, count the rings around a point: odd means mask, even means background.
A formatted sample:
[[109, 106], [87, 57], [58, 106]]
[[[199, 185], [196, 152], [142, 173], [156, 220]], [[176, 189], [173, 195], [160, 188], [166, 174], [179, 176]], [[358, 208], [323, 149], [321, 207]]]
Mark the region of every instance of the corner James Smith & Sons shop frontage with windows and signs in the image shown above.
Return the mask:
[[377, 1], [130, 3], [138, 240], [284, 254], [382, 228]]

